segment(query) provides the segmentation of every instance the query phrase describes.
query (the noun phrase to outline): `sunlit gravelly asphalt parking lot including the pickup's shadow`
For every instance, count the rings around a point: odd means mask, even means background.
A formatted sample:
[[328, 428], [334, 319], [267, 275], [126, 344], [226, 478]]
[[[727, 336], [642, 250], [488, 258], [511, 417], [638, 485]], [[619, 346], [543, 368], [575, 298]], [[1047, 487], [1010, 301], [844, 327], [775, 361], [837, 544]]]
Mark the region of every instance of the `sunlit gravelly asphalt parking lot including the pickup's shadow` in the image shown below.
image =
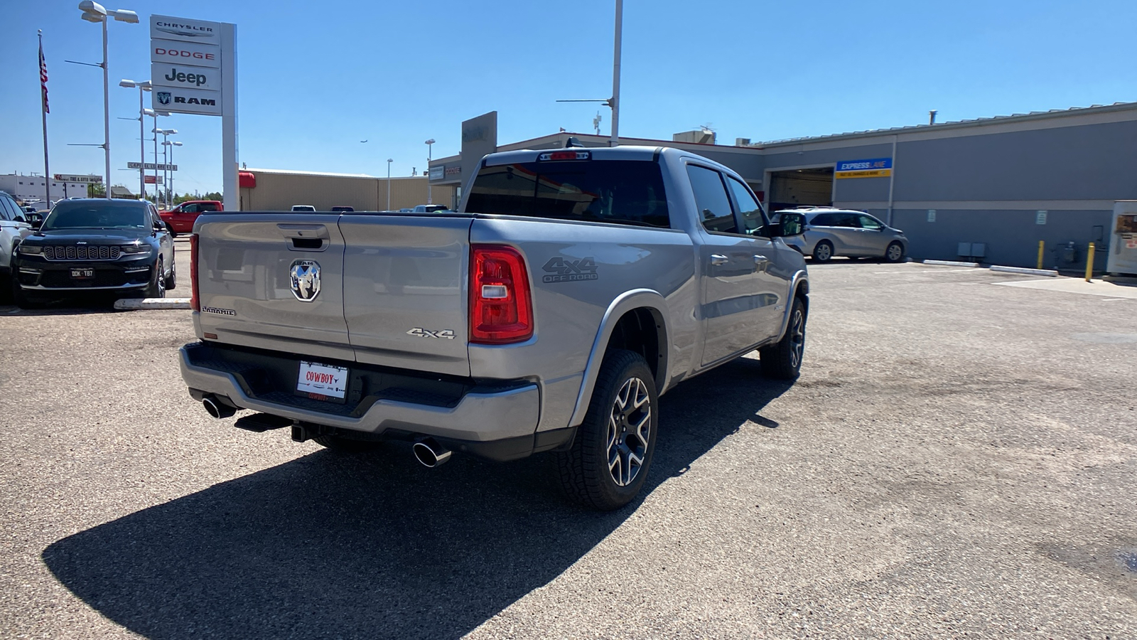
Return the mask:
[[1137, 637], [1137, 300], [811, 279], [800, 379], [669, 393], [614, 514], [214, 420], [188, 311], [0, 307], [0, 637]]

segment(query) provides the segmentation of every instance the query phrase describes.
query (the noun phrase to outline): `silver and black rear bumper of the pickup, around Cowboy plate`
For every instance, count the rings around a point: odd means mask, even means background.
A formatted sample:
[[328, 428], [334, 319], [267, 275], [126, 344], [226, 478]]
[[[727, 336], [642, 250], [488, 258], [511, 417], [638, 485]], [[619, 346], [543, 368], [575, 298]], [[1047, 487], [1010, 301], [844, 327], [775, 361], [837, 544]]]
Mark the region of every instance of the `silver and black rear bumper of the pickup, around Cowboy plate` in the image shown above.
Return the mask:
[[[366, 395], [352, 410], [350, 405], [334, 404], [282, 393], [282, 385], [265, 392], [258, 379], [288, 379], [289, 362], [299, 360], [263, 353], [244, 354], [216, 348], [208, 344], [189, 344], [180, 350], [182, 378], [191, 395], [224, 396], [240, 409], [251, 409], [292, 420], [383, 435], [388, 432], [400, 437], [409, 435], [433, 436], [439, 440], [470, 445], [474, 453], [496, 459], [521, 458], [533, 451], [534, 432], [540, 417], [540, 392], [532, 383], [504, 383], [501, 387], [470, 386], [457, 393], [451, 402], [418, 403]], [[379, 376], [371, 369], [351, 367], [352, 384], [367, 375]], [[293, 384], [294, 384], [294, 374]], [[374, 385], [373, 385], [374, 386]], [[288, 389], [285, 387], [287, 392]], [[382, 395], [382, 394], [380, 394]], [[449, 405], [445, 405], [449, 404]], [[505, 451], [497, 452], [506, 444]], [[528, 446], [525, 445], [528, 443]]]

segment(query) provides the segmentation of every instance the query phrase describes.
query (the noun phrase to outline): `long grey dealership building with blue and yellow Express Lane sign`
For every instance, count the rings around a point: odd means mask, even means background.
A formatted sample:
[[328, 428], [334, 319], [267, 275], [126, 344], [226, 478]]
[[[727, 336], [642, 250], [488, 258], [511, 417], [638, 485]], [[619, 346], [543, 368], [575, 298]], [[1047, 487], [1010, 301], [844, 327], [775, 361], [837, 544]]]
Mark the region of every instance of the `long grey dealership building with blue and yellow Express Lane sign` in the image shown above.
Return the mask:
[[[733, 146], [698, 141], [699, 133], [620, 143], [678, 147], [724, 164], [767, 211], [869, 212], [903, 229], [920, 260], [1035, 266], [1041, 240], [1046, 266], [1072, 269], [1089, 243], [1111, 241], [1114, 202], [1137, 199], [1137, 102]], [[497, 113], [484, 114], [463, 123], [459, 155], [431, 162], [430, 181], [455, 189], [457, 200], [483, 155], [564, 147], [570, 137], [609, 146], [608, 137], [570, 132], [499, 146]]]

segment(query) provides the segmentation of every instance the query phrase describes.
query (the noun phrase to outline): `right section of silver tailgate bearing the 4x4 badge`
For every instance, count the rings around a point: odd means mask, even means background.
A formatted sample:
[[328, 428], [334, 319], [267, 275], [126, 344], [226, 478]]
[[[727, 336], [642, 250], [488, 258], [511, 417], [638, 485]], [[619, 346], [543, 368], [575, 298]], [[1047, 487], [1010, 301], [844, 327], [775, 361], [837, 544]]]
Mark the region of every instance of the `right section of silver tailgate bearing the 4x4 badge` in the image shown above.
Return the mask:
[[468, 216], [340, 218], [343, 315], [359, 362], [470, 375]]

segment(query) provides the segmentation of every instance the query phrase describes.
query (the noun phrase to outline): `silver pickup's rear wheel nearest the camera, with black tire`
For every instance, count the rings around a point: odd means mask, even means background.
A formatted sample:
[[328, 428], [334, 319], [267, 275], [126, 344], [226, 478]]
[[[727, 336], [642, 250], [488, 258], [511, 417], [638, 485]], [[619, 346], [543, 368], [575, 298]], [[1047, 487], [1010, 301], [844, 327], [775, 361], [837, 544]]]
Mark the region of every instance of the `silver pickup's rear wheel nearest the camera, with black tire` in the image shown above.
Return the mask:
[[612, 511], [639, 494], [655, 454], [658, 403], [642, 355], [625, 350], [605, 355], [572, 448], [554, 454], [570, 498]]

